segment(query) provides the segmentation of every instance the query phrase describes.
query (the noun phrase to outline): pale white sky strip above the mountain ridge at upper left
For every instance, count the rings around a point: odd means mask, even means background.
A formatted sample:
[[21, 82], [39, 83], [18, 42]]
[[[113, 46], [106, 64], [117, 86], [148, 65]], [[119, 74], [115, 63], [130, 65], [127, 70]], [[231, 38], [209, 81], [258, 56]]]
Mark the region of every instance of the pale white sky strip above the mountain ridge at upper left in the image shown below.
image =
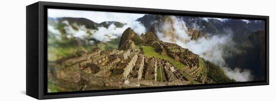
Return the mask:
[[106, 12], [106, 11], [89, 11], [89, 10], [69, 10], [69, 9], [48, 9], [49, 17], [84, 17], [97, 23], [103, 21], [119, 21], [129, 23], [137, 18], [144, 16], [140, 13], [123, 13], [123, 12]]

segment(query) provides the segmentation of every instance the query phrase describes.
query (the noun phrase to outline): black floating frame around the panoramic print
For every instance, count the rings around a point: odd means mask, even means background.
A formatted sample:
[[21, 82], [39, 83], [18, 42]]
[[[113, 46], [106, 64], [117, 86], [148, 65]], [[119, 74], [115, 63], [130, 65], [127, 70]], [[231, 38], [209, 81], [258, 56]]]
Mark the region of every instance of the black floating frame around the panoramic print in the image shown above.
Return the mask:
[[[145, 88], [47, 92], [47, 8], [257, 19], [265, 21], [265, 80]], [[269, 16], [39, 1], [26, 6], [26, 94], [37, 99], [176, 91], [269, 84]]]

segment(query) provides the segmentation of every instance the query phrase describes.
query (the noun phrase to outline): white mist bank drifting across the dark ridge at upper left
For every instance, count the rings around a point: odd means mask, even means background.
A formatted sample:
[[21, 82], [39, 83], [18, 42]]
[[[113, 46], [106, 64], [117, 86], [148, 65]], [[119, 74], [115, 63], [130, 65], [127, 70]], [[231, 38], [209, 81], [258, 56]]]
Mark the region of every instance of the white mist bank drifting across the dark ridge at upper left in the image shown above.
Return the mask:
[[[123, 31], [128, 27], [131, 27], [139, 35], [143, 32], [146, 32], [145, 26], [141, 24], [139, 21], [129, 21], [122, 27], [117, 27], [114, 24], [110, 24], [107, 28], [99, 26], [97, 27], [97, 29], [89, 29], [85, 27], [85, 25], [71, 25], [67, 20], [62, 21], [61, 23], [65, 24], [63, 28], [65, 30], [67, 38], [70, 38], [72, 36], [81, 39], [91, 37], [101, 42], [107, 42], [111, 39], [120, 37]], [[73, 27], [77, 27], [77, 29], [74, 29]], [[61, 32], [58, 29], [56, 29], [53, 25], [50, 24], [48, 24], [48, 30], [54, 33], [56, 36], [60, 36], [61, 34]], [[90, 32], [91, 34], [88, 34], [88, 32]]]

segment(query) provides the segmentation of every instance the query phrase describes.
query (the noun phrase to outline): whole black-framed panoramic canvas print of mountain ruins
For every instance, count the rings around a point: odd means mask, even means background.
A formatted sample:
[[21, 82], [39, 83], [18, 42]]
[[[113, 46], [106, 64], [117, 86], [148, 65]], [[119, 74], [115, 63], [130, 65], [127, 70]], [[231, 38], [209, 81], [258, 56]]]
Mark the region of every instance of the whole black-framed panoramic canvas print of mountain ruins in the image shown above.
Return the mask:
[[38, 99], [268, 84], [268, 16], [43, 2], [27, 7]]

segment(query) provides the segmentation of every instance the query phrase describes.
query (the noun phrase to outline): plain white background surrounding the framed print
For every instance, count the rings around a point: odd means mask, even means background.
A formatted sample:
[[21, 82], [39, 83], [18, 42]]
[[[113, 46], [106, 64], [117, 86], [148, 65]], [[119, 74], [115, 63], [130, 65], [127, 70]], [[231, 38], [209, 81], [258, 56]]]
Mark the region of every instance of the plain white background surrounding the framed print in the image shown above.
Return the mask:
[[[26, 93], [26, 5], [38, 0], [1, 0], [0, 100], [35, 100]], [[70, 3], [269, 15], [269, 85], [51, 100], [275, 100], [276, 3], [273, 0], [45, 0]]]

